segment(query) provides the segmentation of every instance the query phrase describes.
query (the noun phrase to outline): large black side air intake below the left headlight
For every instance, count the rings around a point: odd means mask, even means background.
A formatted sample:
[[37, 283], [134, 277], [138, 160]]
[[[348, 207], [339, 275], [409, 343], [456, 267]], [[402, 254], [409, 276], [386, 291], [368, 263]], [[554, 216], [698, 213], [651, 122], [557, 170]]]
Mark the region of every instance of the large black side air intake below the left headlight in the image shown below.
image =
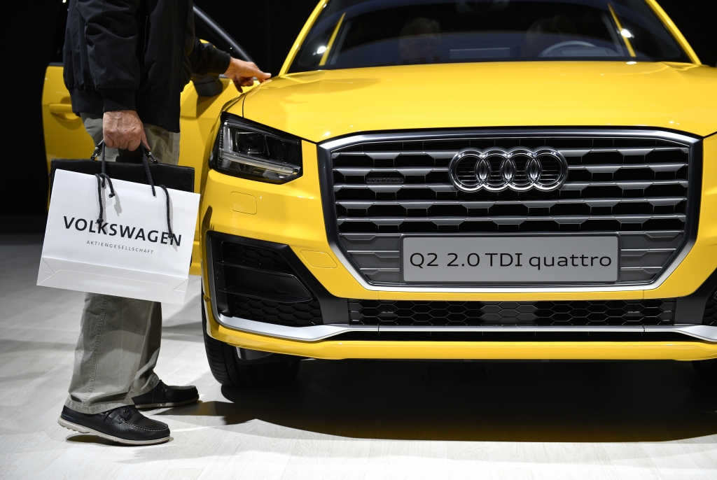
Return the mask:
[[321, 325], [315, 294], [273, 249], [213, 239], [214, 299], [227, 317], [307, 327]]

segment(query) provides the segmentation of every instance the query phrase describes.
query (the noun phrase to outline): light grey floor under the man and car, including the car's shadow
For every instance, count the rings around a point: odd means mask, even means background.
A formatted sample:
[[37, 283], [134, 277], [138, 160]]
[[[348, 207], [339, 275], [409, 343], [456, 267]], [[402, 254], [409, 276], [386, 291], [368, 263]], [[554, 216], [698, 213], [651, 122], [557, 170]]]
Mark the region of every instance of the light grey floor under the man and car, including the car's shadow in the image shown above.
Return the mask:
[[[35, 287], [39, 236], [0, 236], [0, 477], [717, 479], [717, 388], [687, 363], [303, 362], [288, 388], [220, 388], [199, 279], [165, 306], [161, 378], [201, 403], [151, 411], [172, 441], [123, 447], [57, 425], [82, 294]], [[487, 376], [481, 379], [480, 373]]]

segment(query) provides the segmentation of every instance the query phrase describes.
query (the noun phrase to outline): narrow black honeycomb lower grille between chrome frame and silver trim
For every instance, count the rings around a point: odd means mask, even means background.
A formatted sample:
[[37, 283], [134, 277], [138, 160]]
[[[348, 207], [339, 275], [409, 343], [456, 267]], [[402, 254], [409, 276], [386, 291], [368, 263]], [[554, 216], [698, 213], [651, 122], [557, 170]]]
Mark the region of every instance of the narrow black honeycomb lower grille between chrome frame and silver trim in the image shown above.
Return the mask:
[[675, 299], [589, 302], [416, 302], [350, 299], [348, 310], [352, 325], [673, 325]]

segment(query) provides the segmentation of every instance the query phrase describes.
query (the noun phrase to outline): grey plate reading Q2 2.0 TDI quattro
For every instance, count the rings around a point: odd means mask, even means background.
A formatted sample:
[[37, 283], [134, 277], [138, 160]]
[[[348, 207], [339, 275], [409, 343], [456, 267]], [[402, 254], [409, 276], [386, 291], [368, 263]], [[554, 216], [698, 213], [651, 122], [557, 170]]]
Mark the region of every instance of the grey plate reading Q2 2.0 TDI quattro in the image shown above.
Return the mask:
[[407, 236], [404, 282], [616, 282], [617, 236]]

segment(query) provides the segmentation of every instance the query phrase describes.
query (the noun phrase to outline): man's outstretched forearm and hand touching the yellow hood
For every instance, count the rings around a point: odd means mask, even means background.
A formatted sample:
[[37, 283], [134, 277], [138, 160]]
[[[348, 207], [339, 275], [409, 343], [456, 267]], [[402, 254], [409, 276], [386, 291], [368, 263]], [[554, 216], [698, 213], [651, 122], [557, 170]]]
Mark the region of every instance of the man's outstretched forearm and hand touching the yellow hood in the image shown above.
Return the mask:
[[214, 48], [212, 44], [201, 43], [194, 39], [194, 49], [189, 54], [191, 71], [199, 75], [220, 73], [227, 75], [239, 92], [242, 87], [254, 85], [254, 77], [264, 82], [271, 74], [262, 72], [254, 62], [244, 62], [229, 56], [227, 52]]

